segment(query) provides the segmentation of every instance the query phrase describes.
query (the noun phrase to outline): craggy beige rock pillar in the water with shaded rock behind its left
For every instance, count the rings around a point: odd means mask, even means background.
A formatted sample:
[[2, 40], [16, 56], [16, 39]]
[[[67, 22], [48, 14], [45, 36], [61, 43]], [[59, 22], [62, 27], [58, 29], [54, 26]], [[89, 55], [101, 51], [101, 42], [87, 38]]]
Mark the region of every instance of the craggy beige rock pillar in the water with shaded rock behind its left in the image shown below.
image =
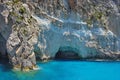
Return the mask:
[[14, 68], [34, 69], [34, 45], [38, 37], [35, 19], [28, 6], [20, 1], [6, 1], [1, 5], [1, 8], [5, 7], [1, 10], [1, 53], [7, 52], [9, 62]]

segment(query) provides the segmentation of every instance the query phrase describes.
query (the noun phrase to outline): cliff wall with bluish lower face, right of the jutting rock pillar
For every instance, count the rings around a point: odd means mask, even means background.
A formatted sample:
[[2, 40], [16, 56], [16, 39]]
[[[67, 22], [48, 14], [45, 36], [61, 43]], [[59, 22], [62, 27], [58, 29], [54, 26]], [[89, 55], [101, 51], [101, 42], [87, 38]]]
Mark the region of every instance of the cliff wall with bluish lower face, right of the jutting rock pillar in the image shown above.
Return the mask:
[[73, 49], [82, 58], [118, 59], [119, 31], [110, 26], [116, 25], [110, 22], [111, 16], [119, 17], [119, 7], [114, 1], [107, 4], [103, 0], [48, 0], [40, 3], [46, 5], [38, 4], [40, 11], [34, 16], [42, 30], [35, 48], [38, 55], [54, 58], [64, 47], [67, 51]]

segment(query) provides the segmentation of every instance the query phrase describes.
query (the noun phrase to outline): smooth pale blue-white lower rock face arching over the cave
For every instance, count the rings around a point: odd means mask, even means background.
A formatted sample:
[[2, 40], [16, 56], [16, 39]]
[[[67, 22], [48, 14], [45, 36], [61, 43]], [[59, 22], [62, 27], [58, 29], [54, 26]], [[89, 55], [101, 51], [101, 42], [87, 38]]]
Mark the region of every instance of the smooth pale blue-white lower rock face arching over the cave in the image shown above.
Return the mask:
[[[89, 29], [85, 22], [60, 20], [55, 23], [33, 16], [41, 28], [36, 51], [54, 58], [59, 50], [74, 51], [82, 58], [119, 54], [118, 40], [110, 31], [100, 27]], [[56, 24], [57, 23], [57, 24]], [[58, 24], [61, 23], [61, 26]]]

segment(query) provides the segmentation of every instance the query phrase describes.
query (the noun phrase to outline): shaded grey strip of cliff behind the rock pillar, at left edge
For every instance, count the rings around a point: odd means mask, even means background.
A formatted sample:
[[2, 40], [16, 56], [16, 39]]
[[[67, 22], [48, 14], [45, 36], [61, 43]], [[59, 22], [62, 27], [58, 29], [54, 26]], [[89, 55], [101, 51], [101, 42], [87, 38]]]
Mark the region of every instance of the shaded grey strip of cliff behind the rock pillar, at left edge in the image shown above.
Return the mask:
[[[6, 12], [6, 14], [5, 14]], [[12, 21], [7, 22], [8, 12], [4, 4], [0, 4], [0, 55], [6, 56], [6, 42], [11, 34]], [[10, 19], [9, 19], [10, 20]]]

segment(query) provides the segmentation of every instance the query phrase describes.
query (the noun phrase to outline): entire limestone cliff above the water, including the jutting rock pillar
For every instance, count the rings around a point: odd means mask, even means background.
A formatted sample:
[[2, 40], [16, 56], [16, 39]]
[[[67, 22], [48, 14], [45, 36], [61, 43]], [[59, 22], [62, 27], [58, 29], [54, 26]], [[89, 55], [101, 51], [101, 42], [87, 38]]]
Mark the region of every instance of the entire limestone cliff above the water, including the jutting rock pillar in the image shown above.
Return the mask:
[[1, 0], [0, 13], [0, 53], [15, 68], [34, 69], [59, 51], [120, 59], [119, 0]]

